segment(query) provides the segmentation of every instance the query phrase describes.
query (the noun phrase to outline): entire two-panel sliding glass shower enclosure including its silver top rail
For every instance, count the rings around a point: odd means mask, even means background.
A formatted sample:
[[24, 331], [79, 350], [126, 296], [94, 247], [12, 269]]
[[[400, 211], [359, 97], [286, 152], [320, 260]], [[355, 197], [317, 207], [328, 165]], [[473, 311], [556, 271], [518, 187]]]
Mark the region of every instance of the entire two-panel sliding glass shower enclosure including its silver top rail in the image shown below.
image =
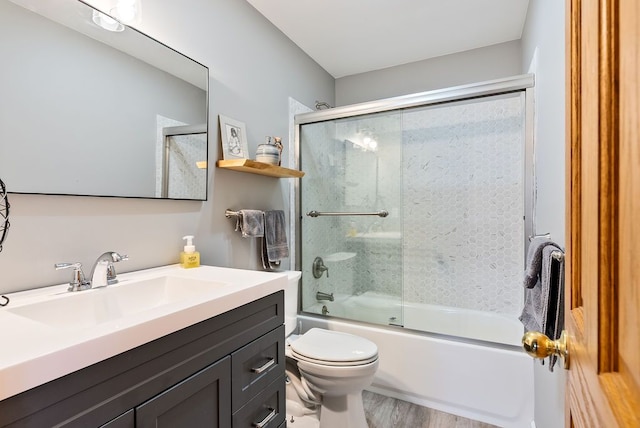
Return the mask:
[[299, 116], [302, 310], [519, 346], [531, 83]]

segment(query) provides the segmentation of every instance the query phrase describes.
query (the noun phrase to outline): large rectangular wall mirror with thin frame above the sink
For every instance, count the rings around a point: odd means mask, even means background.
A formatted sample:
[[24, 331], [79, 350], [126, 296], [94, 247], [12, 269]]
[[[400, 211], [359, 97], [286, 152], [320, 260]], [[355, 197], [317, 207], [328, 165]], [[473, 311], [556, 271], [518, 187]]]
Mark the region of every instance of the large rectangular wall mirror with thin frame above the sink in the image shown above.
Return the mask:
[[8, 191], [206, 200], [207, 67], [97, 13], [0, 0]]

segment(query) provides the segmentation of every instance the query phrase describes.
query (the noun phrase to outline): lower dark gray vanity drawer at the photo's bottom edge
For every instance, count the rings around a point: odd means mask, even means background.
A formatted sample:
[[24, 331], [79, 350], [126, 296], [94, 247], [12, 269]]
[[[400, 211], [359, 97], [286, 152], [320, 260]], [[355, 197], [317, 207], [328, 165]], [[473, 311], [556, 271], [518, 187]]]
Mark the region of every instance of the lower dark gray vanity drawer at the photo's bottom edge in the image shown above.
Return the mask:
[[276, 428], [286, 417], [284, 375], [233, 414], [233, 428]]

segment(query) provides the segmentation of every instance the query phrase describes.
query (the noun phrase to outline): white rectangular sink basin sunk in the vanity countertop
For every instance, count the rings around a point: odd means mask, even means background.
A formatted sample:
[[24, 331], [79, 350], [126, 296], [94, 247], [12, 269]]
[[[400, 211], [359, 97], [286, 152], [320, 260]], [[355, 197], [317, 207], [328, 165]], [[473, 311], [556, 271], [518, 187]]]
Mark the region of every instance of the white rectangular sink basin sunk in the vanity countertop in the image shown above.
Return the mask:
[[205, 296], [224, 282], [177, 276], [125, 281], [7, 310], [52, 327], [86, 328]]

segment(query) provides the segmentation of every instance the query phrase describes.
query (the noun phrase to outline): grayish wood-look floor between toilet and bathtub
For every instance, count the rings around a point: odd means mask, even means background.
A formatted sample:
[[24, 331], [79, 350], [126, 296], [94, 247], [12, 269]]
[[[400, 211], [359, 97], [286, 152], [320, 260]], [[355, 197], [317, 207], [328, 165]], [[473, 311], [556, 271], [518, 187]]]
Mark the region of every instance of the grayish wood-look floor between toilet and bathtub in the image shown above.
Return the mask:
[[495, 428], [369, 391], [362, 398], [369, 428]]

